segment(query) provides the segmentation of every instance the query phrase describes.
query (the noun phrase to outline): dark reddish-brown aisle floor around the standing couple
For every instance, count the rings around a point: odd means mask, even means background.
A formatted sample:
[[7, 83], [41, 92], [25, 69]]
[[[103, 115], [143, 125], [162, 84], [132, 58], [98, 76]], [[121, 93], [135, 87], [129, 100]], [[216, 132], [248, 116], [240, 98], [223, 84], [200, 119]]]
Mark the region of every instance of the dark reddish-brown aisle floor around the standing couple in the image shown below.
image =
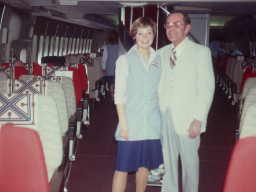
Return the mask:
[[[92, 117], [87, 131], [83, 131], [76, 161], [71, 166], [68, 192], [111, 192], [117, 148], [114, 132], [118, 118], [110, 94], [92, 111]], [[210, 119], [199, 149], [199, 192], [222, 191], [234, 145], [236, 116], [219, 90], [215, 93]], [[160, 191], [161, 187], [148, 186], [146, 189], [146, 192]], [[126, 192], [135, 192], [135, 173], [128, 174]]]

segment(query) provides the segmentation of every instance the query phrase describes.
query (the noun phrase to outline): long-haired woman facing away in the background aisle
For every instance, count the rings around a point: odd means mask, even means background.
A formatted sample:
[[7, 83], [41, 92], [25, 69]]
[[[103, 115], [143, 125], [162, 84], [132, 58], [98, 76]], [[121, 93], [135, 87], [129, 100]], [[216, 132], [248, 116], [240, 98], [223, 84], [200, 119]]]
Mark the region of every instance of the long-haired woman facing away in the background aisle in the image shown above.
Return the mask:
[[[109, 85], [112, 101], [114, 102], [114, 83], [115, 83], [115, 69], [116, 60], [118, 58], [118, 33], [111, 31], [106, 38], [106, 46], [102, 56], [102, 72], [107, 76], [107, 83]], [[106, 68], [107, 64], [107, 68]]]

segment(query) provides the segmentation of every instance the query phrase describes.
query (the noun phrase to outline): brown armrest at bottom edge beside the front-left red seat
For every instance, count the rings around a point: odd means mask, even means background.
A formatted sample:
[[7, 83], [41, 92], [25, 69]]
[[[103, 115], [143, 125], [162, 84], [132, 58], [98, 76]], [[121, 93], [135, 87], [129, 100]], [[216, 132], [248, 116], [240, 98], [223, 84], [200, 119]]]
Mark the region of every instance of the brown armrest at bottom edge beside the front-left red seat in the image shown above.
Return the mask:
[[55, 171], [50, 180], [50, 192], [63, 192], [64, 191], [64, 172]]

